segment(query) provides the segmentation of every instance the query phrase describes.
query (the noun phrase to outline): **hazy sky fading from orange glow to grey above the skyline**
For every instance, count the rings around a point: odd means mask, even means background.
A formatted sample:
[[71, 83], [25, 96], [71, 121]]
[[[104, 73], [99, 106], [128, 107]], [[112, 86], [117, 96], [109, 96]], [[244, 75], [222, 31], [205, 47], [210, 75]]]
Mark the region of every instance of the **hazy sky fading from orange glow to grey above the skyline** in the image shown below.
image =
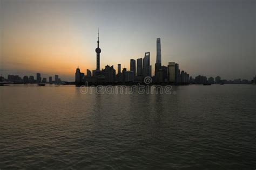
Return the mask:
[[75, 71], [96, 69], [99, 27], [100, 68], [150, 52], [156, 39], [161, 61], [179, 63], [193, 77], [248, 79], [256, 75], [254, 0], [0, 0], [0, 73], [58, 74], [74, 81]]

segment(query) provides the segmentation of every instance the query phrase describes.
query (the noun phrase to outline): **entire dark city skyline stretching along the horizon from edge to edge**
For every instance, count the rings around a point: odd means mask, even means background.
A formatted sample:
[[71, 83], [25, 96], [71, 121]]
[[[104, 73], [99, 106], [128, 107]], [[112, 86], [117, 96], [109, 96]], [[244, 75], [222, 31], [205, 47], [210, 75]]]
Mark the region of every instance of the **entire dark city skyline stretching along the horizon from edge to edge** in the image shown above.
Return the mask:
[[[98, 41], [96, 52], [96, 69], [86, 70], [85, 73], [80, 72], [79, 67], [76, 69], [75, 73], [75, 83], [77, 85], [83, 84], [84, 82], [90, 83], [138, 83], [144, 82], [145, 77], [151, 77], [153, 83], [173, 83], [173, 84], [205, 84], [205, 83], [254, 83], [256, 84], [256, 76], [252, 81], [248, 80], [221, 80], [220, 76], [209, 77], [198, 75], [194, 79], [190, 74], [185, 72], [185, 70], [180, 70], [179, 63], [169, 62], [167, 66], [161, 63], [161, 42], [160, 38], [157, 38], [157, 56], [156, 63], [154, 64], [154, 76], [152, 76], [152, 66], [150, 65], [150, 52], [145, 52], [144, 58], [139, 58], [137, 60], [130, 60], [130, 70], [126, 68], [121, 69], [121, 64], [117, 65], [117, 73], [113, 66], [105, 66], [104, 69], [100, 70], [100, 53], [102, 50], [99, 48], [99, 31], [98, 31]], [[1, 83], [55, 83], [55, 84], [65, 84], [68, 82], [62, 82], [58, 75], [55, 75], [55, 80], [52, 76], [49, 77], [47, 81], [46, 77], [41, 77], [40, 73], [36, 74], [36, 79], [34, 76], [24, 76], [23, 79], [18, 75], [8, 75], [8, 79], [4, 79], [0, 76]]]

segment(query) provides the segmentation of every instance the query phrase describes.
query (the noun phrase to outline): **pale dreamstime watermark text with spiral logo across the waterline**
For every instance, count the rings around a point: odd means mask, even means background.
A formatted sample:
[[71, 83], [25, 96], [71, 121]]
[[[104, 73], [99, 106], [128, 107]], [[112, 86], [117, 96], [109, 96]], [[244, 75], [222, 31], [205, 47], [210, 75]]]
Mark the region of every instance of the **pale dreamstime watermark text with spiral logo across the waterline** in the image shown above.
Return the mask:
[[[133, 84], [132, 86], [126, 86], [126, 85], [97, 85], [97, 86], [88, 86], [88, 82], [85, 82], [85, 85], [82, 85], [79, 87], [81, 94], [168, 94], [168, 95], [176, 95], [177, 91], [172, 90], [171, 85], [154, 85], [151, 84], [153, 82], [152, 78], [150, 76], [147, 76], [144, 78], [144, 84], [138, 83]], [[151, 84], [151, 85], [150, 85]]]

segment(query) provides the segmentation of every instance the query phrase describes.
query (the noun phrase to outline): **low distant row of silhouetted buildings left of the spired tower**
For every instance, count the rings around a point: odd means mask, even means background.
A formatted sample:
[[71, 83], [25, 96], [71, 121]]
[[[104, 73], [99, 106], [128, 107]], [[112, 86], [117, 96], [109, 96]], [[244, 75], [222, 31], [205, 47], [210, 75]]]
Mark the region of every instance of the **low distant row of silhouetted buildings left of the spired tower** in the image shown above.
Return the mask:
[[46, 77], [41, 77], [41, 73], [36, 74], [36, 79], [34, 76], [24, 76], [19, 77], [18, 75], [8, 75], [8, 79], [4, 79], [3, 76], [0, 76], [0, 82], [5, 83], [55, 83], [62, 84], [62, 80], [60, 80], [58, 75], [55, 75], [55, 79], [52, 79], [52, 76], [49, 77], [49, 81], [47, 81]]

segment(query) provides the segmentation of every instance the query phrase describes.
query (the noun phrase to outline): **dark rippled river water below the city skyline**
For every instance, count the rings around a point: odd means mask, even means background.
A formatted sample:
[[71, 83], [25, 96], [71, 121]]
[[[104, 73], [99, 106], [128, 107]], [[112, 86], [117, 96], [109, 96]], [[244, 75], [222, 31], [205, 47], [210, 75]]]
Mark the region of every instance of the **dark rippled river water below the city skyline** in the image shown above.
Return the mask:
[[256, 86], [176, 95], [0, 87], [0, 168], [255, 169]]

